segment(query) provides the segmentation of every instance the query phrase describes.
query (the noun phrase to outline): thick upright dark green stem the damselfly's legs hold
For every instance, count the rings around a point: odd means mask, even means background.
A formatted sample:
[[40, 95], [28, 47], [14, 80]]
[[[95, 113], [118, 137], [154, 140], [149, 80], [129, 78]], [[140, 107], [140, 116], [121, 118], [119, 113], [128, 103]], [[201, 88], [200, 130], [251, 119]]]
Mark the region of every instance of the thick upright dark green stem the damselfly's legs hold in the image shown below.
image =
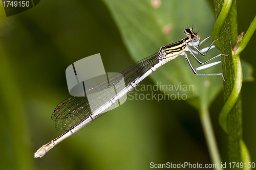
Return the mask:
[[[222, 12], [222, 4], [225, 5], [227, 0], [215, 0], [216, 7], [216, 15]], [[231, 42], [235, 40], [234, 37], [237, 37], [237, 17], [236, 17], [236, 2], [235, 0], [230, 7], [230, 14], [225, 19], [225, 22], [221, 28], [219, 37], [219, 45], [222, 54], [229, 54], [229, 56], [225, 56], [222, 58], [222, 73], [225, 78], [224, 82], [224, 101], [229, 102], [230, 100], [236, 101], [236, 103], [232, 105], [225, 105], [226, 111], [231, 110], [229, 113], [226, 112], [226, 117], [223, 119], [223, 114], [220, 114], [220, 125], [222, 128], [224, 127], [224, 131], [228, 134], [228, 155], [230, 162], [242, 162], [241, 160], [241, 140], [242, 140], [242, 101], [240, 94], [240, 89], [242, 86], [242, 70], [239, 56], [233, 56], [231, 47], [232, 44], [236, 42]], [[226, 9], [226, 13], [229, 11]], [[216, 23], [218, 25], [218, 23]], [[214, 32], [214, 31], [213, 31]], [[233, 65], [234, 64], [234, 65]], [[236, 76], [235, 76], [236, 75]], [[236, 82], [235, 82], [236, 79]], [[237, 85], [238, 91], [233, 91], [234, 84]], [[230, 94], [236, 93], [234, 96], [230, 96]], [[238, 99], [238, 100], [236, 100]], [[221, 112], [223, 113], [223, 111]], [[221, 123], [224, 123], [221, 124]]]

